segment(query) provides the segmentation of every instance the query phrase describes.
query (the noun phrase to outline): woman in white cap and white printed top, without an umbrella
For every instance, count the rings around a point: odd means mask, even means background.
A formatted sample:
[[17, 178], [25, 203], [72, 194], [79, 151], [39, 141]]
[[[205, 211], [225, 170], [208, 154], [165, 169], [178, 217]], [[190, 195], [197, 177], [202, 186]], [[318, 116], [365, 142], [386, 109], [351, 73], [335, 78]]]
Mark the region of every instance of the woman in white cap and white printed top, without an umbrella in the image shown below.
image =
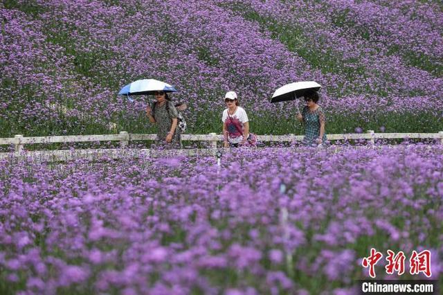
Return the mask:
[[245, 145], [249, 136], [249, 120], [246, 111], [239, 107], [237, 93], [229, 91], [224, 96], [227, 109], [223, 111], [224, 147]]

